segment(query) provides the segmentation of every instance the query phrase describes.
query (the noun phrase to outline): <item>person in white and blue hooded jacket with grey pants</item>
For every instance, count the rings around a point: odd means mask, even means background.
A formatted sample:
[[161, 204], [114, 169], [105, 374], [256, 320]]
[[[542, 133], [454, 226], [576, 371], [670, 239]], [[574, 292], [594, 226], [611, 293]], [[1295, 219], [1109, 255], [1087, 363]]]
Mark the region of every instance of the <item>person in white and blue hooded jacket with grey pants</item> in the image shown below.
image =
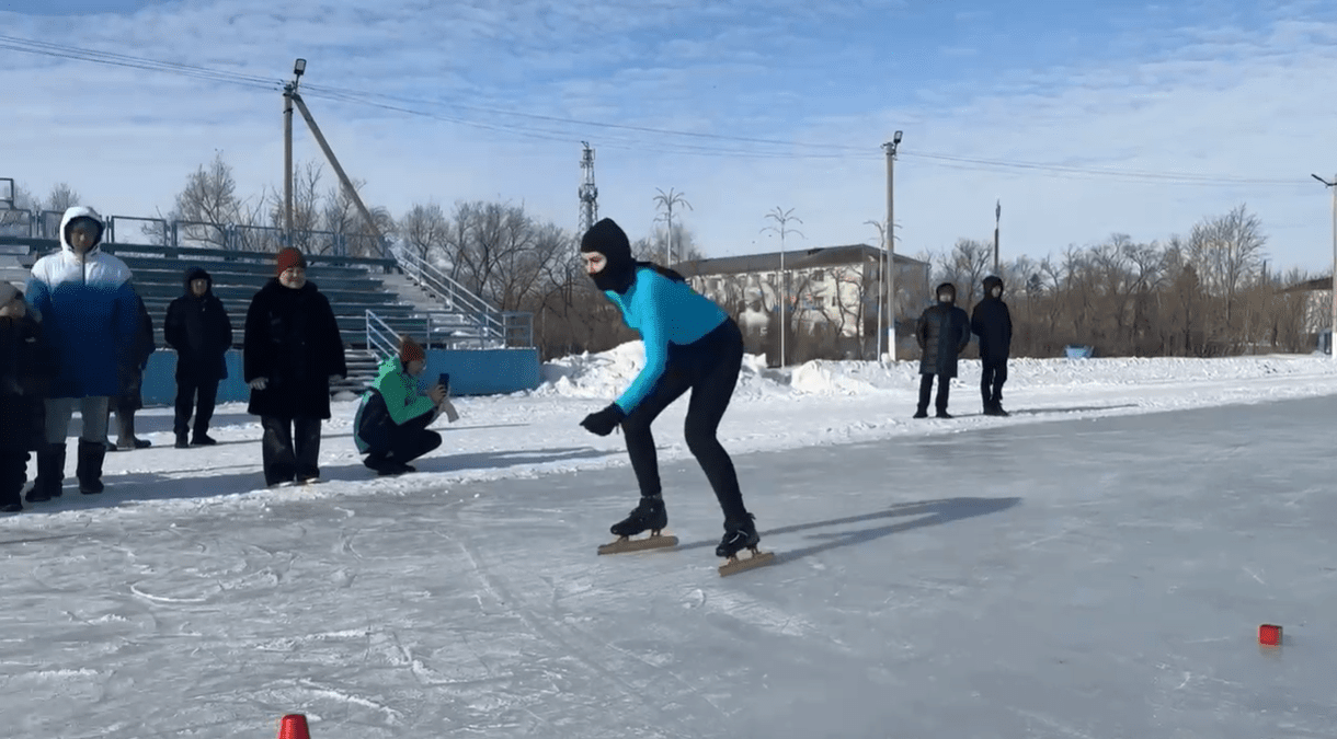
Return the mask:
[[106, 227], [90, 207], [68, 208], [60, 219], [60, 251], [37, 259], [28, 301], [43, 317], [45, 345], [57, 374], [47, 397], [47, 448], [37, 452], [37, 481], [28, 500], [59, 497], [66, 476], [66, 434], [79, 409], [79, 492], [103, 492], [107, 406], [120, 393], [120, 370], [134, 361], [139, 331], [138, 295], [130, 267], [99, 249]]

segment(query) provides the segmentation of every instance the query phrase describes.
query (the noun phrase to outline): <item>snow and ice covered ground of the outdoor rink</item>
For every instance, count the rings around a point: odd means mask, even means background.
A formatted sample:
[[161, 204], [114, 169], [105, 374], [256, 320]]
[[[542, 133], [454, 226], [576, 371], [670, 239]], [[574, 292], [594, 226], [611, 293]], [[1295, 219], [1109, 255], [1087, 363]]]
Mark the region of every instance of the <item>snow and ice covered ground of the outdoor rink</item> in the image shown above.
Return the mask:
[[[338, 402], [326, 482], [301, 489], [262, 489], [242, 405], [210, 449], [143, 412], [154, 448], [108, 454], [104, 494], [0, 519], [0, 718], [126, 739], [271, 736], [287, 712], [317, 739], [1337, 726], [1330, 358], [1017, 359], [1009, 418], [979, 414], [967, 361], [955, 420], [909, 417], [912, 362], [750, 362], [721, 436], [779, 556], [729, 579], [685, 402], [656, 426], [682, 545], [594, 556], [635, 492], [620, 436], [578, 422], [638, 358], [459, 398], [398, 478], [362, 468]], [[1255, 648], [1265, 620], [1282, 649]]]

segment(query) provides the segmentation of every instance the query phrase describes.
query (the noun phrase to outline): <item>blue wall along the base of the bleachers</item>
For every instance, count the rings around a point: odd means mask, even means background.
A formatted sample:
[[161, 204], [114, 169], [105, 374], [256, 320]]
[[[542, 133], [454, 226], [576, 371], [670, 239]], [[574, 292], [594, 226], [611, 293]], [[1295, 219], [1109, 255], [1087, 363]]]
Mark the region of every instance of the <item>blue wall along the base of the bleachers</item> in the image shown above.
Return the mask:
[[[171, 405], [176, 398], [176, 353], [159, 349], [148, 357], [142, 396], [144, 405]], [[451, 373], [451, 396], [495, 396], [533, 390], [543, 381], [537, 349], [429, 349], [424, 385]], [[245, 402], [242, 353], [227, 353], [227, 380], [218, 385], [218, 402]]]

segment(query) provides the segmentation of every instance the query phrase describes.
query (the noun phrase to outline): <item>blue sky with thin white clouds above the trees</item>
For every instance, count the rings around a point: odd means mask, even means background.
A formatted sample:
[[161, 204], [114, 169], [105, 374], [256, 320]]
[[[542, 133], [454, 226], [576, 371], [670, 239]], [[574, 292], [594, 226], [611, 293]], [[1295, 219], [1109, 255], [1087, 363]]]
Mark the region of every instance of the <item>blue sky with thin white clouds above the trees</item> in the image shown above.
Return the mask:
[[[671, 187], [707, 255], [774, 249], [775, 207], [804, 220], [790, 247], [876, 243], [880, 147], [902, 130], [905, 253], [992, 238], [999, 199], [1004, 258], [1165, 239], [1246, 203], [1274, 267], [1332, 263], [1309, 176], [1337, 172], [1330, 3], [7, 0], [0, 28], [251, 79], [0, 43], [23, 80], [0, 176], [118, 215], [168, 210], [215, 151], [243, 194], [278, 187], [278, 86], [301, 56], [341, 163], [396, 215], [504, 199], [575, 229], [588, 140], [600, 215], [632, 237]], [[320, 158], [301, 128], [295, 150]]]

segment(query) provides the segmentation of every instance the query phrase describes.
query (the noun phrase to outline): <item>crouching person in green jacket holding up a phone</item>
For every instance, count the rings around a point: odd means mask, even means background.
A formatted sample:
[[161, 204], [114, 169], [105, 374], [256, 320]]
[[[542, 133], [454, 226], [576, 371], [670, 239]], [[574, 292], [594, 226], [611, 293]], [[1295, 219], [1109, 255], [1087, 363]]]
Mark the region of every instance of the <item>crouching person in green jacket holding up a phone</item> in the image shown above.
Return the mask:
[[441, 445], [441, 434], [427, 428], [451, 401], [440, 384], [425, 396], [418, 393], [417, 378], [425, 369], [422, 345], [404, 337], [398, 357], [381, 362], [376, 382], [357, 406], [353, 442], [366, 454], [362, 464], [377, 474], [417, 472], [408, 462]]

